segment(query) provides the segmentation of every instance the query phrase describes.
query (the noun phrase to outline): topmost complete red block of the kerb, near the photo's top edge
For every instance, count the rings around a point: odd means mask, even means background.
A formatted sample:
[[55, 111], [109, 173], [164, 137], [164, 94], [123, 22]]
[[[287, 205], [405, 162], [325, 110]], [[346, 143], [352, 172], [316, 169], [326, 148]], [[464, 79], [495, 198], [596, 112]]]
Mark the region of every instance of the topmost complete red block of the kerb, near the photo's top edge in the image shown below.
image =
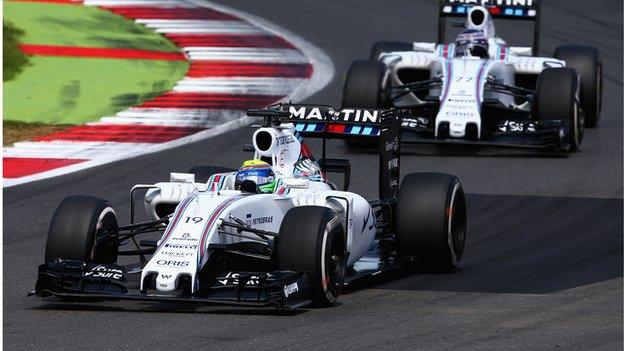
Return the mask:
[[100, 8], [132, 19], [238, 20], [232, 15], [206, 8], [155, 6], [100, 6]]

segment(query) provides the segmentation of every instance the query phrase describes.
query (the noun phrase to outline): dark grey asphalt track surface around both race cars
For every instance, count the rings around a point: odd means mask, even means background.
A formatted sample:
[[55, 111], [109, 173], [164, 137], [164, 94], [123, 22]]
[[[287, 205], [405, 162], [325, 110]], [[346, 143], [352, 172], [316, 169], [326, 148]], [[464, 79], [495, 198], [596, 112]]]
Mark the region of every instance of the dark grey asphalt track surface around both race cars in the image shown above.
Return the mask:
[[[221, 1], [226, 3], [226, 1]], [[227, 1], [228, 5], [232, 5]], [[308, 102], [338, 105], [351, 60], [376, 40], [433, 40], [433, 1], [239, 0], [234, 5], [325, 50], [339, 75]], [[518, 35], [516, 31], [516, 35]], [[600, 127], [566, 158], [456, 155], [416, 148], [402, 172], [456, 174], [468, 196], [463, 269], [370, 281], [340, 304], [283, 315], [272, 310], [107, 303], [43, 303], [25, 294], [43, 259], [49, 219], [69, 194], [108, 198], [127, 220], [128, 189], [193, 165], [236, 167], [248, 155], [240, 129], [4, 190], [6, 349], [604, 349], [622, 347], [622, 3], [549, 1], [542, 54], [560, 44], [597, 46], [604, 59]], [[375, 195], [377, 159], [343, 144], [351, 190]]]

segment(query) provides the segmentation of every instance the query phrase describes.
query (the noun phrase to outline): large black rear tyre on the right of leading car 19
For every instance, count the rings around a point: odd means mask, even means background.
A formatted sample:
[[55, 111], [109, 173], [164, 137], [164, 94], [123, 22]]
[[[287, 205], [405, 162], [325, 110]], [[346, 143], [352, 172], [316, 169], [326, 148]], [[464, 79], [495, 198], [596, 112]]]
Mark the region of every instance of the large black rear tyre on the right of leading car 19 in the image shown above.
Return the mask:
[[466, 199], [457, 177], [412, 173], [401, 182], [396, 205], [398, 252], [419, 268], [449, 272], [457, 268], [466, 242]]

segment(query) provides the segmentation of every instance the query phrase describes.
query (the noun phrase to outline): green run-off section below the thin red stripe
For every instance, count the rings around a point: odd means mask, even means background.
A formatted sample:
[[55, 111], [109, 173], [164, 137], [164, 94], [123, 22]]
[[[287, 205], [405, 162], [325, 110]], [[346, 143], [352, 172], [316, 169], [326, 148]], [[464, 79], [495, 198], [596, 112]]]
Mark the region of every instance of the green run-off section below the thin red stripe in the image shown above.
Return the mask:
[[34, 56], [31, 62], [4, 83], [4, 119], [93, 121], [169, 90], [186, 72], [180, 61]]

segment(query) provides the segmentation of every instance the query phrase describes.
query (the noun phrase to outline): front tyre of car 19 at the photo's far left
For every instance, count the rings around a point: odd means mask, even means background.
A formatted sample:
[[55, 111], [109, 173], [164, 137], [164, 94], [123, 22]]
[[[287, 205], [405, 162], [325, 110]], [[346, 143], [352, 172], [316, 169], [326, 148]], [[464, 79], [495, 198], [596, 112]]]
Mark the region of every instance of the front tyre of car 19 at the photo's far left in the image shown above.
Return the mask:
[[52, 216], [45, 260], [115, 263], [119, 249], [117, 237], [117, 216], [108, 201], [92, 196], [69, 196]]

